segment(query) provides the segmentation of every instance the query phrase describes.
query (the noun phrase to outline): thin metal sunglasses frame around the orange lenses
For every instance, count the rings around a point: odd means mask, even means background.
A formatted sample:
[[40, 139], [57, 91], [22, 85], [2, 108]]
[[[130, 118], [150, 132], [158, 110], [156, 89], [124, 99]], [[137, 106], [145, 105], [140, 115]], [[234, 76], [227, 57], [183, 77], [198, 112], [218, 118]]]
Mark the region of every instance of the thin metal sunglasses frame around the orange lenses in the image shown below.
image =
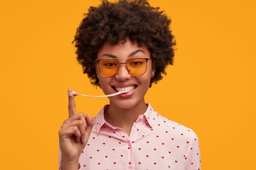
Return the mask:
[[[128, 58], [128, 60], [136, 59], [136, 58], [146, 60], [146, 71], [147, 71], [147, 68], [148, 68], [148, 60], [149, 60], [151, 57], [104, 58], [104, 59], [97, 59], [97, 60], [95, 60], [95, 62], [97, 63], [98, 68], [99, 68], [99, 67], [100, 67], [99, 62], [100, 62], [101, 60], [109, 60], [109, 59], [111, 59], [111, 60], [116, 60], [116, 59], [124, 59], [124, 58]], [[128, 60], [126, 60], [126, 62], [127, 62]], [[126, 64], [126, 62], [119, 62], [118, 60], [116, 60], [116, 61], [118, 62], [118, 65], [117, 65], [117, 66], [118, 66], [117, 72], [118, 72], [118, 71], [119, 71], [119, 68], [120, 68], [120, 64]], [[130, 72], [129, 72], [128, 68], [127, 68], [127, 64], [126, 64], [126, 70], [127, 70], [128, 73], [130, 74]], [[146, 73], [146, 71], [145, 71], [143, 74], [141, 74], [141, 75], [144, 75], [144, 74]], [[99, 73], [101, 73], [100, 69], [99, 69]], [[117, 73], [115, 73], [115, 75], [116, 75], [116, 74], [117, 74]], [[101, 73], [101, 75], [102, 75], [102, 73]], [[115, 76], [115, 75], [112, 75], [112, 76]], [[132, 74], [130, 74], [130, 75], [132, 75]], [[141, 75], [132, 75], [132, 76], [141, 76]], [[103, 76], [103, 77], [112, 77], [112, 76], [105, 76], [105, 75], [102, 75], [102, 76]]]

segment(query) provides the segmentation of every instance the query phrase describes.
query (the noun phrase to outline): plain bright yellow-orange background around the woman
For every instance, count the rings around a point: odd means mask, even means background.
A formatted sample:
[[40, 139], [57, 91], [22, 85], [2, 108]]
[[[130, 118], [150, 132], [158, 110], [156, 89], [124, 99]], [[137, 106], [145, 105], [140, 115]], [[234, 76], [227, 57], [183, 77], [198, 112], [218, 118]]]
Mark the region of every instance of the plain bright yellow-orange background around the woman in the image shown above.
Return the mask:
[[[254, 0], [150, 0], [172, 19], [175, 64], [146, 95], [158, 113], [192, 128], [203, 170], [255, 162]], [[77, 26], [99, 0], [0, 2], [0, 169], [57, 170], [67, 88], [102, 95], [76, 62]], [[108, 99], [78, 96], [95, 116]]]

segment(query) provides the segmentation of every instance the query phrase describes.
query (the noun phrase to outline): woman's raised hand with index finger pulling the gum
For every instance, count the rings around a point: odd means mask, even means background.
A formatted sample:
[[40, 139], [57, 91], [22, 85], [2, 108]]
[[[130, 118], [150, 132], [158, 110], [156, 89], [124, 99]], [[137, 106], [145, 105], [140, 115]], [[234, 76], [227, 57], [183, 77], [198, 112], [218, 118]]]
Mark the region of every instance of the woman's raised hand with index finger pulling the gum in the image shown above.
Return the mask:
[[[72, 89], [68, 89], [72, 92]], [[94, 121], [89, 115], [83, 113], [76, 114], [76, 106], [74, 95], [68, 97], [68, 112], [69, 118], [63, 122], [59, 130], [59, 142], [61, 149], [61, 169], [76, 169], [78, 170], [79, 157], [85, 148]]]

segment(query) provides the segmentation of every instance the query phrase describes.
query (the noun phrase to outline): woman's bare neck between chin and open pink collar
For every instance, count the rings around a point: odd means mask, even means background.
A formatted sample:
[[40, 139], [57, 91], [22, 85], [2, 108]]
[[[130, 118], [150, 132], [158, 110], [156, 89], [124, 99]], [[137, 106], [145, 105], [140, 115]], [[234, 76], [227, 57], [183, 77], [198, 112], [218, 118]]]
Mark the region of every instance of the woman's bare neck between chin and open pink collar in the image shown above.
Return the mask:
[[112, 126], [122, 128], [130, 135], [130, 130], [133, 123], [139, 115], [142, 115], [147, 110], [147, 105], [144, 98], [132, 108], [120, 108], [110, 101], [108, 110], [105, 111], [105, 120]]

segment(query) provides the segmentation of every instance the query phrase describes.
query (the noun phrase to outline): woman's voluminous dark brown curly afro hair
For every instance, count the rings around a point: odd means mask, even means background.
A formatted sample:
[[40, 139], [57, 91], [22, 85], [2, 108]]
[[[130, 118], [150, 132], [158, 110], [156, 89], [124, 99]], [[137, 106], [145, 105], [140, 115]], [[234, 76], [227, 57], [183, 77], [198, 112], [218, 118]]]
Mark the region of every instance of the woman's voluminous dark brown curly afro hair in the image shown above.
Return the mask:
[[99, 7], [90, 7], [76, 30], [75, 43], [77, 60], [83, 66], [83, 73], [91, 84], [99, 85], [96, 75], [97, 53], [104, 42], [117, 45], [119, 40], [129, 37], [132, 43], [144, 46], [150, 51], [155, 76], [150, 80], [157, 83], [166, 75], [166, 67], [173, 65], [176, 42], [169, 26], [171, 19], [151, 7], [148, 0], [102, 0]]

